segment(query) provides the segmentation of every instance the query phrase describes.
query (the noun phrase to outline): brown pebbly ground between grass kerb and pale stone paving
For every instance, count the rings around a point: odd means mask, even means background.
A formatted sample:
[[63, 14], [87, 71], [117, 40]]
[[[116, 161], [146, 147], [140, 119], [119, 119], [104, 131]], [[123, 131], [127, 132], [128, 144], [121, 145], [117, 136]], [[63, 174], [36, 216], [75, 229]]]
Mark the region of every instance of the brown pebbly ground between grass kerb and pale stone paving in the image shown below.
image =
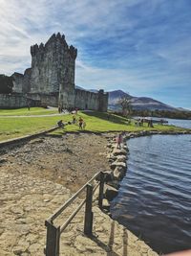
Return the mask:
[[107, 135], [45, 136], [20, 147], [2, 149], [1, 169], [5, 173], [46, 178], [74, 192], [97, 172], [110, 169], [106, 145]]

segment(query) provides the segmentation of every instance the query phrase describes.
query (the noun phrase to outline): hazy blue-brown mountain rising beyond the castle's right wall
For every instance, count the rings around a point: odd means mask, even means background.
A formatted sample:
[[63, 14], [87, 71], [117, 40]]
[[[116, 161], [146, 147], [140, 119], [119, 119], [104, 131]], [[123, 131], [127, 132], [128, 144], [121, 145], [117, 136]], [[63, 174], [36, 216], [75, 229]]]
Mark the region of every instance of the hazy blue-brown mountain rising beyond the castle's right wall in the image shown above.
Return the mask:
[[148, 97], [134, 97], [122, 90], [115, 90], [109, 92], [109, 109], [119, 109], [120, 105], [118, 100], [122, 97], [128, 97], [130, 99], [131, 105], [137, 110], [168, 110], [168, 111], [180, 111], [180, 108], [163, 104], [157, 100]]

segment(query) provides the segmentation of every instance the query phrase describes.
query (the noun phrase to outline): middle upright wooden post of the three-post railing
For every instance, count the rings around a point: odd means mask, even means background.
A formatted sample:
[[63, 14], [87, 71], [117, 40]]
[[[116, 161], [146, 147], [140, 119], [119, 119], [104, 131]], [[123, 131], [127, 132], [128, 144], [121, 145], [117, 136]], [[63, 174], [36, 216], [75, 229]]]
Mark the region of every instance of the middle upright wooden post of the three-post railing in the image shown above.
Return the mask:
[[93, 186], [90, 184], [87, 184], [85, 219], [84, 219], [84, 234], [86, 234], [87, 236], [91, 236], [93, 233], [92, 201], [93, 201]]

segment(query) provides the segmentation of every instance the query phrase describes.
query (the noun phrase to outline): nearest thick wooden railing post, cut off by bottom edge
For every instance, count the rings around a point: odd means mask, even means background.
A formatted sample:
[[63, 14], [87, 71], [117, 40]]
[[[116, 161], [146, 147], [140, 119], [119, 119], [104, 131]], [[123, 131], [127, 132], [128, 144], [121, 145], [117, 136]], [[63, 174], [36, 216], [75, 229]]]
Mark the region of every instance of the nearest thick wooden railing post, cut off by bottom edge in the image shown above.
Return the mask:
[[59, 256], [60, 226], [55, 227], [50, 221], [45, 221], [47, 226], [46, 256]]

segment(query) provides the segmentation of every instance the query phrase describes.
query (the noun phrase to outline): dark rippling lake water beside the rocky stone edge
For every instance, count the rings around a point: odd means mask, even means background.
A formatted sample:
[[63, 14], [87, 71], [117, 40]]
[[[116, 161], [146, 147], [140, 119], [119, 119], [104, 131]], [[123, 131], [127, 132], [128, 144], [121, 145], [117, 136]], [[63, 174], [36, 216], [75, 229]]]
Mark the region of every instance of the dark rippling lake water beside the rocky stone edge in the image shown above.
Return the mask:
[[191, 135], [129, 140], [114, 219], [162, 253], [191, 247]]

